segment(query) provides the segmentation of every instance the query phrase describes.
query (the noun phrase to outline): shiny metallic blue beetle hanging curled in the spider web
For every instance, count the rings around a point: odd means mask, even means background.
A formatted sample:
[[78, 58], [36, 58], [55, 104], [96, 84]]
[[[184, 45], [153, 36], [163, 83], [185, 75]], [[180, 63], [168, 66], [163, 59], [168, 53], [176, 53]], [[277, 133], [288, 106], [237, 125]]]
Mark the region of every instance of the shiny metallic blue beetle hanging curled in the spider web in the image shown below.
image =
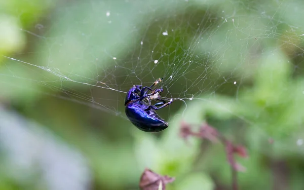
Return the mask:
[[[168, 103], [160, 99], [162, 88], [152, 90], [161, 79], [158, 79], [150, 87], [141, 85], [133, 86], [127, 93], [125, 98], [126, 115], [133, 125], [145, 132], [159, 132], [168, 127], [168, 123], [161, 118], [155, 110], [168, 106], [173, 102], [171, 99]], [[150, 93], [148, 93], [150, 91]], [[155, 105], [151, 105], [151, 100], [159, 101]]]

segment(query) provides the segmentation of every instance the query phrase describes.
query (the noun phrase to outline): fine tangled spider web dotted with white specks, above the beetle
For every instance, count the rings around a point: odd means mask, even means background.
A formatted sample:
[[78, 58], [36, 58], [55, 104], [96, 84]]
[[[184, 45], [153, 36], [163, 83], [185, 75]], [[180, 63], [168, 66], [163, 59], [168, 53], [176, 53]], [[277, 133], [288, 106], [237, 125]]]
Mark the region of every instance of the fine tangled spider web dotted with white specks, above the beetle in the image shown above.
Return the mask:
[[[164, 78], [163, 97], [182, 100], [176, 107], [185, 108], [203, 95], [226, 94], [238, 100], [239, 90], [252, 79], [255, 60], [269, 51], [268, 43], [270, 51], [284, 48], [291, 59], [302, 58], [300, 17], [289, 16], [300, 12], [296, 3], [62, 4], [34, 27], [21, 28], [28, 47], [20, 54], [3, 55], [2, 83], [25, 94], [33, 88], [123, 118], [125, 93], [158, 78]], [[296, 63], [294, 73], [300, 73], [302, 61]], [[38, 89], [33, 87], [37, 84]]]

